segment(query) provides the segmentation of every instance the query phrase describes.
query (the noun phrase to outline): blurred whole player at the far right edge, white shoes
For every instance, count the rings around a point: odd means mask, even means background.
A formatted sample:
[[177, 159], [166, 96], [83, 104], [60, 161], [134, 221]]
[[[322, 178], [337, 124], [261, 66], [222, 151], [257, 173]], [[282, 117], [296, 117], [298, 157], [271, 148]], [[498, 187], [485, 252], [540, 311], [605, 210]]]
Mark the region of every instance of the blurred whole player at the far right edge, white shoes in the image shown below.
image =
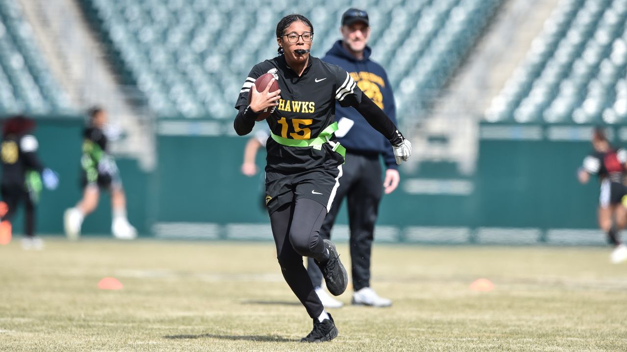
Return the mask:
[[627, 247], [619, 237], [619, 231], [627, 223], [627, 187], [623, 184], [627, 150], [612, 148], [602, 128], [594, 129], [592, 145], [594, 151], [584, 158], [577, 176], [582, 184], [590, 180], [590, 175], [599, 177], [599, 227], [608, 234], [608, 241], [614, 246], [611, 262], [619, 263], [627, 259]]

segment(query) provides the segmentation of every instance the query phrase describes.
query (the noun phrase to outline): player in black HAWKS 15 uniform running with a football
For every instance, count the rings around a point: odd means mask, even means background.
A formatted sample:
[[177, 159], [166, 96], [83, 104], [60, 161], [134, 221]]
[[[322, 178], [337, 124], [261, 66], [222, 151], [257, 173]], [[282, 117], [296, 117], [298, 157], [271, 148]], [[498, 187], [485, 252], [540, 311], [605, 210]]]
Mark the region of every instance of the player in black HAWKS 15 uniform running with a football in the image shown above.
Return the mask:
[[[292, 14], [279, 21], [279, 54], [250, 71], [235, 104], [239, 113], [234, 121], [238, 135], [246, 135], [259, 113], [273, 108], [265, 119], [271, 136], [266, 147], [266, 206], [283, 277], [314, 321], [302, 342], [330, 341], [337, 336], [334, 320], [325, 312], [303, 266], [303, 256], [315, 259], [327, 289], [335, 296], [345, 291], [348, 279], [334, 244], [319, 235], [344, 163], [344, 147], [333, 136], [335, 100], [366, 116], [393, 143], [398, 163], [411, 155], [411, 143], [346, 71], [310, 56], [313, 39], [314, 26], [304, 16]], [[266, 73], [274, 78], [258, 92], [255, 80]], [[275, 80], [279, 89], [270, 92]]]

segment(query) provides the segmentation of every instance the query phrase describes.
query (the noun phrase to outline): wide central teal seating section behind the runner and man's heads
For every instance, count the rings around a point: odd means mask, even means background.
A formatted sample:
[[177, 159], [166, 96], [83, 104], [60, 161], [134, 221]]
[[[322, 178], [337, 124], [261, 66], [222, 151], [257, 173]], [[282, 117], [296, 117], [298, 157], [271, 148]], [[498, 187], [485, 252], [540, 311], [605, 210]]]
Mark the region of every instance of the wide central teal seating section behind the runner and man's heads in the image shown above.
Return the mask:
[[[499, 0], [248, 2], [80, 0], [124, 83], [161, 116], [232, 118], [250, 68], [275, 56], [283, 14], [314, 24], [314, 56], [339, 39], [350, 6], [370, 11], [373, 58], [389, 73], [399, 116], [418, 114], [475, 43]], [[255, 4], [253, 7], [251, 4]]]

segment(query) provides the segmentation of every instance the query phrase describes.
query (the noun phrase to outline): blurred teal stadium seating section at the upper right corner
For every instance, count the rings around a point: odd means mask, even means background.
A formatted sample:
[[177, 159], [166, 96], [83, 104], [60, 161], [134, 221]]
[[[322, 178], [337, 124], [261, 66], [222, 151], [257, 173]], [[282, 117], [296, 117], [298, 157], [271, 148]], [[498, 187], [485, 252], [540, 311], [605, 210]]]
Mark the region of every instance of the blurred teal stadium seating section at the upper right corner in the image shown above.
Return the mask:
[[625, 123], [627, 1], [563, 0], [487, 122]]

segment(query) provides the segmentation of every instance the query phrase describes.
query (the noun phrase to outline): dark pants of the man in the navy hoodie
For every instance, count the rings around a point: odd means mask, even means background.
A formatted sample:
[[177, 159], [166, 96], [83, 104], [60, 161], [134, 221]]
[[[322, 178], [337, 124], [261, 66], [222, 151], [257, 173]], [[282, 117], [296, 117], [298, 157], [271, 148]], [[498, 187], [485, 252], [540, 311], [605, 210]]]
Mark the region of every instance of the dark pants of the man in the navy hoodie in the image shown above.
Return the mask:
[[[346, 162], [342, 168], [344, 174], [337, 189], [333, 205], [324, 219], [320, 236], [329, 239], [335, 217], [346, 197], [349, 210], [350, 227], [350, 264], [352, 265], [352, 284], [354, 291], [370, 287], [370, 257], [374, 224], [379, 212], [379, 202], [383, 190], [381, 162], [379, 155], [346, 153]], [[311, 259], [307, 263], [307, 272], [314, 286], [322, 284], [322, 272]]]

